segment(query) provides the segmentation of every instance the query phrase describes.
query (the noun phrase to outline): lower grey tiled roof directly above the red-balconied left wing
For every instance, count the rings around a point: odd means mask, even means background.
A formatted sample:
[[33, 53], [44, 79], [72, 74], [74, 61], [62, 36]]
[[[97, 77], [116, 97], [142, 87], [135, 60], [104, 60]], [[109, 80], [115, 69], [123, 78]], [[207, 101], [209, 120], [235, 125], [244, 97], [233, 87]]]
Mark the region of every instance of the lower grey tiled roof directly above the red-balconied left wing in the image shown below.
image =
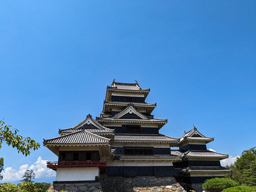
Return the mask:
[[77, 131], [49, 140], [44, 145], [109, 145], [110, 139], [88, 131]]

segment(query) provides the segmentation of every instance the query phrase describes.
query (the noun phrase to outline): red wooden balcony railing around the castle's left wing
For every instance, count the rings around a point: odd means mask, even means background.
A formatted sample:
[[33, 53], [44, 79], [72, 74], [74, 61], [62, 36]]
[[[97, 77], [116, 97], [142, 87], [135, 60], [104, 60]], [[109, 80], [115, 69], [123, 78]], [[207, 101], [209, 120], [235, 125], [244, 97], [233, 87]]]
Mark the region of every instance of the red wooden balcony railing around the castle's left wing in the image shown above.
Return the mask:
[[57, 168], [98, 167], [100, 172], [106, 172], [107, 167], [107, 161], [47, 161], [46, 164], [54, 171]]

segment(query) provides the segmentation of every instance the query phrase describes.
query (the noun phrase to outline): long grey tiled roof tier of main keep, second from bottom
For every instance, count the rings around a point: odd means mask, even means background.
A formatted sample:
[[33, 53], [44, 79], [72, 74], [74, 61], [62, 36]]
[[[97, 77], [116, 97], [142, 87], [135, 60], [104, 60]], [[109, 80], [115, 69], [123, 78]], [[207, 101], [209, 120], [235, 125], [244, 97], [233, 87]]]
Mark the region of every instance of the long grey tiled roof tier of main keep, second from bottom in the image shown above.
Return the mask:
[[119, 142], [167, 142], [177, 143], [178, 138], [172, 138], [163, 134], [115, 134], [114, 141]]

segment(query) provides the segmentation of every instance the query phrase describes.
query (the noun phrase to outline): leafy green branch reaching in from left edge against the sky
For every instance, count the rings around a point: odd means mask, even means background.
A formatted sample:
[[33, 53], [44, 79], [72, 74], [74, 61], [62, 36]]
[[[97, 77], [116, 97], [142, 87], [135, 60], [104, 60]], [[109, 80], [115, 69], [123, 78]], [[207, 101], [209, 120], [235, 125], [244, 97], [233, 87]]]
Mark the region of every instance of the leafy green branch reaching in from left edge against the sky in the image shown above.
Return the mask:
[[17, 132], [19, 130], [10, 130], [11, 125], [4, 125], [4, 122], [0, 121], [0, 148], [3, 141], [6, 142], [8, 146], [12, 145], [13, 148], [17, 148], [18, 153], [22, 152], [23, 155], [28, 156], [30, 150], [37, 150], [40, 148], [40, 143], [36, 143], [35, 140], [31, 140], [29, 136], [22, 137]]

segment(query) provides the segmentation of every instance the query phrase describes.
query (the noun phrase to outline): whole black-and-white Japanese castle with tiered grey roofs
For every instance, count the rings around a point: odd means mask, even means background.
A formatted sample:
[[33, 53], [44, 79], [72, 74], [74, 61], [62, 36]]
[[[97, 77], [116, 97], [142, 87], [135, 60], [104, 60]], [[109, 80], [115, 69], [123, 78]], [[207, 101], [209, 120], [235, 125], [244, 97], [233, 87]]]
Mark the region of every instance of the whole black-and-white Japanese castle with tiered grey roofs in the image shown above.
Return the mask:
[[[136, 83], [107, 86], [99, 117], [86, 118], [60, 136], [44, 140], [58, 162], [47, 162], [56, 170], [56, 182], [81, 182], [108, 177], [172, 176], [191, 189], [212, 177], [229, 172], [220, 164], [226, 154], [207, 150], [213, 141], [194, 126], [180, 138], [159, 133], [167, 119], [154, 118], [156, 103], [145, 102], [150, 89]], [[173, 150], [172, 147], [179, 147]]]

